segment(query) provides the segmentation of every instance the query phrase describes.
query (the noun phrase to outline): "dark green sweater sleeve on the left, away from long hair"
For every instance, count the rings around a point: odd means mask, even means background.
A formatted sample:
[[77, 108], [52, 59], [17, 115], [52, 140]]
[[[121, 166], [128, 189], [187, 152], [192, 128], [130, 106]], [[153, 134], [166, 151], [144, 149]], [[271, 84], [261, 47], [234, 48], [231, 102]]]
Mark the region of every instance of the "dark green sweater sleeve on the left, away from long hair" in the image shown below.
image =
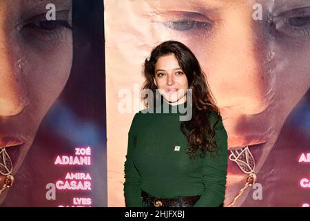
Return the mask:
[[127, 155], [125, 160], [125, 203], [127, 207], [142, 207], [141, 176], [134, 166], [134, 148], [136, 147], [136, 121], [138, 114], [134, 116], [128, 133]]

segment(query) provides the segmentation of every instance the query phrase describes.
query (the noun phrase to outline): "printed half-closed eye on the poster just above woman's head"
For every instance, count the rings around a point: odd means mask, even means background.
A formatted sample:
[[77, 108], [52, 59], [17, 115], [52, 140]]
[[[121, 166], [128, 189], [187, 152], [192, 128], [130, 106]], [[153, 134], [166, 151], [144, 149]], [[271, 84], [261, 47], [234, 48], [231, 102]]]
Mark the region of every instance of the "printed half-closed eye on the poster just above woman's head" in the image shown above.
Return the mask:
[[164, 22], [164, 25], [167, 26], [167, 28], [179, 31], [211, 28], [211, 23], [203, 21], [168, 21]]

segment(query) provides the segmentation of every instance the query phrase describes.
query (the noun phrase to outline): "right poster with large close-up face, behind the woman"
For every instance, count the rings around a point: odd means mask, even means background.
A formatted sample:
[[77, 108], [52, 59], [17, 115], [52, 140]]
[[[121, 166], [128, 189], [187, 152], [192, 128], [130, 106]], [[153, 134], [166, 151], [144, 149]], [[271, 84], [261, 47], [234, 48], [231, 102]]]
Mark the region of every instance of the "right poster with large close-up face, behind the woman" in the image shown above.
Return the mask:
[[[125, 206], [128, 131], [145, 108], [143, 63], [167, 40], [194, 52], [223, 117], [225, 206], [309, 206], [309, 1], [104, 4], [109, 206]], [[131, 95], [126, 108], [124, 91]]]

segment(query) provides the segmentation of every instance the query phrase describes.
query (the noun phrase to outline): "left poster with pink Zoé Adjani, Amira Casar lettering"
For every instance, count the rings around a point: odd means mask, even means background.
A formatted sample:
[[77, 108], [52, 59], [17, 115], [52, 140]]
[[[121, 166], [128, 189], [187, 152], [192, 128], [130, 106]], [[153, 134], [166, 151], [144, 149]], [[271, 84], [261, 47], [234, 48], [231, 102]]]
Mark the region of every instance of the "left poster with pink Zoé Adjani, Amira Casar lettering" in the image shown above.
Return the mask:
[[103, 2], [0, 8], [0, 205], [107, 206]]

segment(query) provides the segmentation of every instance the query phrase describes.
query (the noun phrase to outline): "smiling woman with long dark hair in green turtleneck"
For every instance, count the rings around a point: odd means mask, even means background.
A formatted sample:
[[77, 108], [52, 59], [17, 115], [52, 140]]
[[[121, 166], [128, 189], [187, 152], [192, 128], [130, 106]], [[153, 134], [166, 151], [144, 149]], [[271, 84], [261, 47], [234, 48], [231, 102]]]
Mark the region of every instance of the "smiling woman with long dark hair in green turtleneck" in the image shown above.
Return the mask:
[[[220, 206], [227, 133], [198, 60], [187, 46], [165, 41], [145, 60], [144, 75], [143, 90], [152, 93], [143, 97], [148, 109], [135, 115], [129, 132], [126, 205]], [[180, 122], [184, 105], [192, 117]]]

